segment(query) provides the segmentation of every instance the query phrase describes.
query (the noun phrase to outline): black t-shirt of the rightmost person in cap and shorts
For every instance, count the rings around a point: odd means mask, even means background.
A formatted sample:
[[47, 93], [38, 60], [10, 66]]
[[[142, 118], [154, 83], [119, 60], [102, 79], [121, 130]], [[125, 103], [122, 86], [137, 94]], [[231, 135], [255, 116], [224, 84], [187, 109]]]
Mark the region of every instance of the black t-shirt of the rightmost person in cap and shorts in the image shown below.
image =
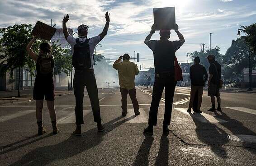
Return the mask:
[[221, 79], [221, 65], [217, 61], [214, 61], [211, 63], [211, 65], [209, 67], [209, 74], [213, 74], [211, 83], [218, 84], [219, 80]]

